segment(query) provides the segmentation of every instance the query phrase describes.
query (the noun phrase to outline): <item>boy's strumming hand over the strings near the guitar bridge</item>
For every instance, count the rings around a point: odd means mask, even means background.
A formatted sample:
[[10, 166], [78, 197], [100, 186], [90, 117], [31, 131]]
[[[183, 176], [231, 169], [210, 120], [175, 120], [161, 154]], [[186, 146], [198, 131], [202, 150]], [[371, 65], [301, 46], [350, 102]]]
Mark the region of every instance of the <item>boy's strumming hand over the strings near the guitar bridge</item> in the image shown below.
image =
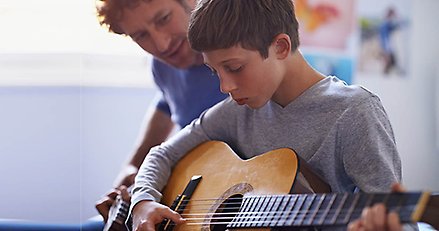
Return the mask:
[[132, 216], [133, 230], [135, 231], [155, 231], [156, 224], [159, 224], [165, 218], [176, 224], [185, 222], [180, 214], [154, 201], [141, 201], [136, 204]]

